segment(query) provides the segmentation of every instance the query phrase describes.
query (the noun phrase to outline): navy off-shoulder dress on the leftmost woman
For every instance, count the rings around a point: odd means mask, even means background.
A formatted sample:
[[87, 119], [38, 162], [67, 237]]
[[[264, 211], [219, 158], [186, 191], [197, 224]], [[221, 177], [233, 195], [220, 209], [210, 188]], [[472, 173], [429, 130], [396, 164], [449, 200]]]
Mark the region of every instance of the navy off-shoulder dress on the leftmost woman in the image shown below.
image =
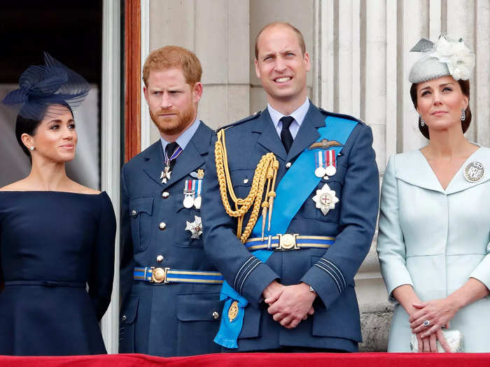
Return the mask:
[[115, 236], [105, 192], [0, 192], [0, 354], [106, 353]]

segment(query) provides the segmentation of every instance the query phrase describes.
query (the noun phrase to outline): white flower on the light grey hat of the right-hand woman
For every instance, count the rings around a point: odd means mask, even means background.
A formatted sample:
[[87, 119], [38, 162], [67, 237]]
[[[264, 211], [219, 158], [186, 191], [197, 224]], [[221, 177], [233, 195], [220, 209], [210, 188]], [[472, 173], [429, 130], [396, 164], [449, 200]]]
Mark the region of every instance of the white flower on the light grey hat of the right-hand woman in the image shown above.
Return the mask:
[[475, 54], [460, 38], [458, 41], [440, 36], [434, 45], [435, 51], [431, 56], [447, 64], [449, 73], [454, 80], [468, 80], [475, 66]]

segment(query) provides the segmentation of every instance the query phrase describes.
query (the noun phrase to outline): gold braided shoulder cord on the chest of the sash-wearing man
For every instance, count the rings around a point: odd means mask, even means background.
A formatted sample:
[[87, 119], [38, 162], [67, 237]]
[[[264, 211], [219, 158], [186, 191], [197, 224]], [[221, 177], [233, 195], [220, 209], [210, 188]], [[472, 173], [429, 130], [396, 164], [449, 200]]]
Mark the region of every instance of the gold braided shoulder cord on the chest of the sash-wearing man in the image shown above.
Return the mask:
[[[226, 213], [230, 217], [238, 218], [237, 225], [237, 237], [240, 238], [242, 243], [245, 243], [250, 236], [253, 226], [258, 220], [258, 211], [260, 209], [260, 201], [264, 196], [264, 188], [267, 180], [267, 189], [265, 190], [264, 201], [262, 202], [262, 238], [264, 237], [265, 222], [267, 221], [267, 209], [269, 208], [268, 217], [268, 230], [270, 230], [270, 221], [272, 217], [272, 207], [274, 206], [274, 187], [276, 186], [277, 170], [279, 169], [279, 161], [277, 161], [274, 153], [267, 153], [262, 155], [260, 161], [255, 168], [253, 174], [252, 187], [248, 196], [245, 199], [237, 198], [235, 191], [233, 190], [233, 184], [230, 176], [230, 170], [228, 168], [228, 155], [226, 152], [225, 144], [225, 130], [218, 131], [218, 141], [214, 145], [214, 154], [216, 160], [216, 173], [218, 175], [218, 182], [220, 185], [221, 201], [225, 207]], [[233, 203], [235, 203], [235, 210], [232, 210], [230, 202], [228, 201], [228, 192]], [[253, 206], [250, 219], [245, 226], [245, 230], [241, 233], [243, 227], [244, 216], [248, 210]]]

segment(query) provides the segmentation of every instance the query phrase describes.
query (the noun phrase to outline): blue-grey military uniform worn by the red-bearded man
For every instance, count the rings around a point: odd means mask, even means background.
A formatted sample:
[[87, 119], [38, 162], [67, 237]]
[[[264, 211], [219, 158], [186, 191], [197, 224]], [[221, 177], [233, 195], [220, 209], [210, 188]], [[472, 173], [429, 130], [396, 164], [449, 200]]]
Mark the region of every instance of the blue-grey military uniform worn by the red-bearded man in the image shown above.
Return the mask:
[[[120, 345], [122, 353], [172, 357], [220, 352], [213, 343], [223, 303], [220, 284], [154, 282], [152, 268], [216, 271], [204, 254], [202, 235], [191, 238], [187, 222], [201, 210], [183, 206], [186, 180], [204, 169], [214, 132], [203, 122], [162, 183], [162, 143], [157, 141], [123, 166], [121, 174]], [[202, 171], [201, 171], [202, 172]], [[206, 199], [203, 199], [203, 202]], [[134, 269], [147, 280], [135, 279]]]

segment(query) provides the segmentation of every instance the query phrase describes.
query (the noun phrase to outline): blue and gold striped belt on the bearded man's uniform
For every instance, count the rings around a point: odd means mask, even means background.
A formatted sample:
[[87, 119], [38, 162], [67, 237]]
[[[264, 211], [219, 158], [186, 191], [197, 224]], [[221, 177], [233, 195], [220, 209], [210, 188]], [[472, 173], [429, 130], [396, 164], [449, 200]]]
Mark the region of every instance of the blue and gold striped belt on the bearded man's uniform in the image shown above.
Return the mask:
[[153, 266], [134, 268], [133, 278], [142, 282], [163, 285], [169, 283], [223, 283], [223, 276], [218, 271], [177, 270], [171, 268], [155, 268]]

